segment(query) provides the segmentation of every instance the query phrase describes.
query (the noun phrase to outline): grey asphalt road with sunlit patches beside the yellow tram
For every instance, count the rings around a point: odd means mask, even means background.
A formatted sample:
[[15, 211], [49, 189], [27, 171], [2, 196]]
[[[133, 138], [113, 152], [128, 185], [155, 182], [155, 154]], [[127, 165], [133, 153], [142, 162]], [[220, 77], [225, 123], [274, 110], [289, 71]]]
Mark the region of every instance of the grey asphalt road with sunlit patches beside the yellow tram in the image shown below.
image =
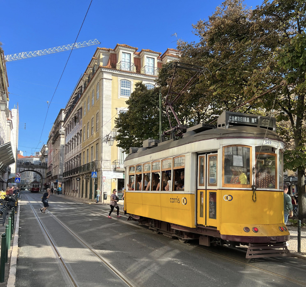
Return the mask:
[[304, 284], [306, 281], [304, 260], [250, 261], [245, 259], [245, 254], [224, 247], [202, 248], [195, 243], [180, 243], [137, 223], [126, 222], [126, 216], [117, 219], [115, 211], [109, 219], [107, 205], [76, 203], [68, 198], [51, 196], [50, 213], [41, 214], [41, 193], [23, 193], [19, 205], [16, 287], [70, 286], [36, 217], [50, 234], [78, 286], [126, 284], [56, 218], [134, 286], [298, 286], [303, 284], [294, 280]]

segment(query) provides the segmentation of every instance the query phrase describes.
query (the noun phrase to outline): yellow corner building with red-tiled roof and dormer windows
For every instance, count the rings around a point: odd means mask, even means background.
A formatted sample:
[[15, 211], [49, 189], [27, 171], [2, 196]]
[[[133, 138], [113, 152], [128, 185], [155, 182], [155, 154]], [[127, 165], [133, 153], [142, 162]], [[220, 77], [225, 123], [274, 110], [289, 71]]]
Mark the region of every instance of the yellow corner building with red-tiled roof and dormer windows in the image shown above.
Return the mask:
[[120, 197], [125, 154], [113, 143], [114, 119], [127, 110], [125, 101], [137, 82], [153, 88], [162, 64], [178, 58], [174, 49], [162, 55], [137, 50], [125, 44], [117, 44], [114, 49], [97, 48], [77, 82], [65, 108], [63, 125], [65, 194], [93, 200], [99, 188], [109, 200], [116, 188]]

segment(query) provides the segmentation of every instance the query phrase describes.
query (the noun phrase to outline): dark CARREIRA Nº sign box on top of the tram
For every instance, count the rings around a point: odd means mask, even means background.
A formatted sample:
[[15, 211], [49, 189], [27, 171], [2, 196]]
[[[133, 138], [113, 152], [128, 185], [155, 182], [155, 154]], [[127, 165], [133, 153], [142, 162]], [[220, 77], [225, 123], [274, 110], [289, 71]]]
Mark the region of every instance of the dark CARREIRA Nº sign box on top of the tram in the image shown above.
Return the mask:
[[259, 115], [249, 115], [239, 112], [224, 111], [218, 118], [218, 128], [229, 128], [230, 126], [243, 125], [255, 126], [258, 128], [268, 128], [276, 130], [276, 119], [274, 117], [264, 117]]

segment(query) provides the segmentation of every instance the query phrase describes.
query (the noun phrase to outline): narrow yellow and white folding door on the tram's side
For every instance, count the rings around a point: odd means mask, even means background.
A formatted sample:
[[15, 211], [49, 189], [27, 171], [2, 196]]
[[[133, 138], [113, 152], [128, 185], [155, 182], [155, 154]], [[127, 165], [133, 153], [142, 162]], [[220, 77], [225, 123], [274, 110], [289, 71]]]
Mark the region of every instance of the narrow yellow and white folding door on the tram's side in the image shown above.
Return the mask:
[[218, 154], [198, 155], [197, 224], [217, 226]]

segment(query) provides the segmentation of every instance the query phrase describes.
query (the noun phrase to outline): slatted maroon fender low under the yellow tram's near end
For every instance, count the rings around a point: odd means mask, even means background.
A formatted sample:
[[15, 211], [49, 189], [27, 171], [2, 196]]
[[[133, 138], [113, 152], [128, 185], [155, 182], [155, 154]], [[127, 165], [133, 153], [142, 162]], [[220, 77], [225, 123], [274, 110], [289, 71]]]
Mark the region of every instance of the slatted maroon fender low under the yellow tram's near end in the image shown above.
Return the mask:
[[286, 245], [255, 245], [250, 244], [245, 258], [290, 256]]

